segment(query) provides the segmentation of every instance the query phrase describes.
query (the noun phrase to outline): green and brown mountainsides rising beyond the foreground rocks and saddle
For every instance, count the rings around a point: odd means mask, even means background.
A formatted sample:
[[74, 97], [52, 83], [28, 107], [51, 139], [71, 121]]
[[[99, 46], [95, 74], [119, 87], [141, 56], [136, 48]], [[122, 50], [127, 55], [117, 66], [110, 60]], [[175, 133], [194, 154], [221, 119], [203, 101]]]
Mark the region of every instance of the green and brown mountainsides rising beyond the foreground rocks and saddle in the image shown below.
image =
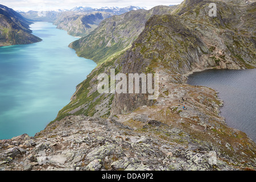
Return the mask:
[[[251, 30], [255, 26], [251, 19], [243, 17], [250, 16], [255, 3], [237, 6], [216, 1], [220, 7], [217, 17], [208, 16], [208, 3], [184, 1], [172, 15], [152, 16], [172, 12], [159, 6], [112, 16], [85, 38], [71, 43], [77, 55], [94, 60], [98, 67], [77, 85], [71, 103], [56, 119], [82, 113], [129, 113], [154, 102], [147, 100], [146, 94], [99, 94], [97, 75], [109, 74], [110, 68], [115, 68], [116, 73], [166, 72], [173, 75], [169, 80], [177, 83], [183, 83], [186, 80], [183, 75], [196, 70], [254, 68], [256, 44]], [[234, 14], [235, 11], [240, 13]], [[142, 22], [147, 18], [150, 20], [143, 27]]]

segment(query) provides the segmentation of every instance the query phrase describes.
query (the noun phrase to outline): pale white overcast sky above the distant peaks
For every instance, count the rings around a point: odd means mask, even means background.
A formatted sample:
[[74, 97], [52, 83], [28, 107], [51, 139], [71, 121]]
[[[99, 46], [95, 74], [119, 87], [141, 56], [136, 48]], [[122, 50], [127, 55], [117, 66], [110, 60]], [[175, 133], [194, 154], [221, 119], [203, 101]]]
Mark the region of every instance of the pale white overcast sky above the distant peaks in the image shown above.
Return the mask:
[[57, 10], [57, 9], [72, 9], [76, 6], [87, 7], [126, 7], [126, 6], [140, 6], [151, 7], [158, 5], [177, 5], [183, 0], [0, 0], [1, 5], [5, 5], [14, 10]]

